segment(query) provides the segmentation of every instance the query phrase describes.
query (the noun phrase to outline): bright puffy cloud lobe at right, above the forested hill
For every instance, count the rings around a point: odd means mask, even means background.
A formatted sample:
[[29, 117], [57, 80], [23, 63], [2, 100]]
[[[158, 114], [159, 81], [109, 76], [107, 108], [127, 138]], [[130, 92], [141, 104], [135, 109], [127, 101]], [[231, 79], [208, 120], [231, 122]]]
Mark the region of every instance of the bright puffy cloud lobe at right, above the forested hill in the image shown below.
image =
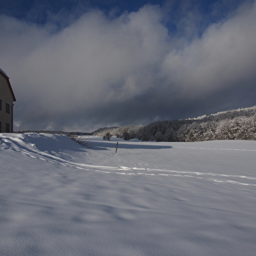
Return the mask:
[[[206, 29], [201, 38], [166, 55], [163, 70], [180, 89], [201, 96], [255, 79], [256, 8]], [[188, 94], [191, 96], [191, 94]]]

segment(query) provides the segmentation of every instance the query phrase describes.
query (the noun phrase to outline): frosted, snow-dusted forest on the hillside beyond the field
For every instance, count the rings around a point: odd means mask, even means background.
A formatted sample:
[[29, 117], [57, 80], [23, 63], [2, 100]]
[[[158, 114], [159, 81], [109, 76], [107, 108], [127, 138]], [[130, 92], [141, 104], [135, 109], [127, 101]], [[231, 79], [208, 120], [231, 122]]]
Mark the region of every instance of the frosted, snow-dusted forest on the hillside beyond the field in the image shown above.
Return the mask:
[[101, 128], [94, 135], [107, 132], [125, 140], [210, 141], [219, 139], [256, 139], [256, 106], [193, 119], [152, 122], [147, 125]]

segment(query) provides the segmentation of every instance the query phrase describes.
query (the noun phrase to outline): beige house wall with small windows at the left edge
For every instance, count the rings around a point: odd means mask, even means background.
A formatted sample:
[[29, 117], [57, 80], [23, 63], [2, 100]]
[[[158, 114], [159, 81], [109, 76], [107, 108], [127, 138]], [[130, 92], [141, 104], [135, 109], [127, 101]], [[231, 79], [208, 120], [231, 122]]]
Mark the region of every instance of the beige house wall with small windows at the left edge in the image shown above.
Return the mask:
[[[12, 132], [12, 105], [13, 98], [10, 92], [8, 81], [3, 74], [0, 72], [0, 132]], [[9, 113], [7, 113], [7, 106]], [[8, 127], [9, 129], [8, 129]]]

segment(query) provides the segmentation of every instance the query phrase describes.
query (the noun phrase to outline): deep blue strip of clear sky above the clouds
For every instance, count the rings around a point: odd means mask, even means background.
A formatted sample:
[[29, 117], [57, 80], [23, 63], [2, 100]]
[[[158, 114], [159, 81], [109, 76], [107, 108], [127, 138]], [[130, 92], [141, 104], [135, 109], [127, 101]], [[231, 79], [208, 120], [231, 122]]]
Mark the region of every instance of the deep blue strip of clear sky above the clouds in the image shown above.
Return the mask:
[[225, 19], [244, 2], [244, 0], [1, 0], [1, 13], [42, 25], [47, 23], [50, 15], [59, 12], [77, 19], [90, 9], [98, 9], [113, 18], [124, 12], [137, 12], [144, 5], [158, 5], [166, 14], [165, 25], [169, 31], [175, 32], [177, 21], [186, 15], [186, 12], [196, 10], [204, 19], [205, 25], [208, 25]]

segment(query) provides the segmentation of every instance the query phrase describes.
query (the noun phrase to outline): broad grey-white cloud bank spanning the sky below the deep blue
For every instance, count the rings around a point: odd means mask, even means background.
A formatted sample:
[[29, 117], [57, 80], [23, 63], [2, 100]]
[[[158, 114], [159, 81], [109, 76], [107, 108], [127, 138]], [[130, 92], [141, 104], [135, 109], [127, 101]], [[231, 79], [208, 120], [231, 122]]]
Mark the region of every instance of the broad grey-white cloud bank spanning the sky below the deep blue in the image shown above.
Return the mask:
[[91, 10], [53, 32], [52, 23], [0, 16], [0, 65], [16, 94], [16, 123], [82, 130], [171, 119], [180, 101], [255, 84], [255, 5], [190, 42], [171, 38], [163, 18], [152, 5], [118, 18]]

